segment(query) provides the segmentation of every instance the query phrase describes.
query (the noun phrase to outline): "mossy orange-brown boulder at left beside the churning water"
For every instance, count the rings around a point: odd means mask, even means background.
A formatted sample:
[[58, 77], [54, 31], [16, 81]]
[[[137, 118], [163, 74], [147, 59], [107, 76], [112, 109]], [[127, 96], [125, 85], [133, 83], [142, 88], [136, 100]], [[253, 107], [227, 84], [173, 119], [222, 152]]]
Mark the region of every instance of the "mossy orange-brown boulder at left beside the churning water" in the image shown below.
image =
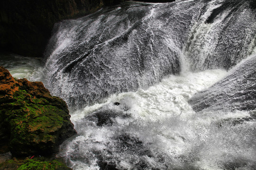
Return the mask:
[[13, 155], [47, 155], [76, 134], [66, 103], [41, 82], [15, 80], [0, 67], [0, 141]]

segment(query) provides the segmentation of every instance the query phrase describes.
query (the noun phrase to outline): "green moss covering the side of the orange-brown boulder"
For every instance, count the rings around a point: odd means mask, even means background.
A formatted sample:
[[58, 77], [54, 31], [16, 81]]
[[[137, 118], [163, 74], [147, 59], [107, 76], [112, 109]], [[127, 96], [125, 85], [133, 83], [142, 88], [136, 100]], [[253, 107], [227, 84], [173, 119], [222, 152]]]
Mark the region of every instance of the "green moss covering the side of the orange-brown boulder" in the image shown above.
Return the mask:
[[55, 143], [54, 133], [63, 126], [65, 111], [50, 105], [44, 98], [31, 96], [26, 90], [15, 92], [13, 99], [15, 102], [0, 106], [0, 116], [4, 115], [9, 122], [10, 146]]

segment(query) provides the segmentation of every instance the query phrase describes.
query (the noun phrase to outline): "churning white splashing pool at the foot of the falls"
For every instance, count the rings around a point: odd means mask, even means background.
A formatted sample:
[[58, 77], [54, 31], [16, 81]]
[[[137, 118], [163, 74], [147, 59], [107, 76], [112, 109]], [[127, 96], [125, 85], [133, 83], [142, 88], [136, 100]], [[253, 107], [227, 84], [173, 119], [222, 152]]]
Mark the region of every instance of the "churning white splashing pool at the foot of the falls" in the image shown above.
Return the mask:
[[235, 123], [250, 113], [195, 113], [187, 103], [226, 74], [168, 76], [146, 90], [77, 110], [71, 119], [78, 136], [62, 145], [60, 156], [74, 170], [253, 170], [256, 122]]

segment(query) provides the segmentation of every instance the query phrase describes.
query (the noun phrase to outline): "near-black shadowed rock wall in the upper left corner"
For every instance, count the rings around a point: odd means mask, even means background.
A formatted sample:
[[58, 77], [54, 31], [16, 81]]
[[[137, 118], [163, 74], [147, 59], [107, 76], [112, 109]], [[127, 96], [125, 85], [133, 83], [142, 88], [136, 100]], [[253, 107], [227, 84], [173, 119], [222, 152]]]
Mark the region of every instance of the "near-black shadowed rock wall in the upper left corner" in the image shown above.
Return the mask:
[[92, 13], [102, 5], [101, 0], [1, 0], [0, 48], [41, 57], [56, 22]]

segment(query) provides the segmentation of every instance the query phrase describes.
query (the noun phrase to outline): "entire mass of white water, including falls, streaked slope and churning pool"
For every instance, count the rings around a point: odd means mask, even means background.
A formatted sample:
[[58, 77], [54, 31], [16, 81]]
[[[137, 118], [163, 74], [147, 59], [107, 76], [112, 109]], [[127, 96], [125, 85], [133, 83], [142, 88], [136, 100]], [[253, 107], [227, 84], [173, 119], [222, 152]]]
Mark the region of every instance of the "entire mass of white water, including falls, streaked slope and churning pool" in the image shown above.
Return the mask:
[[126, 2], [56, 24], [42, 67], [0, 64], [67, 102], [74, 170], [256, 170], [255, 7]]

